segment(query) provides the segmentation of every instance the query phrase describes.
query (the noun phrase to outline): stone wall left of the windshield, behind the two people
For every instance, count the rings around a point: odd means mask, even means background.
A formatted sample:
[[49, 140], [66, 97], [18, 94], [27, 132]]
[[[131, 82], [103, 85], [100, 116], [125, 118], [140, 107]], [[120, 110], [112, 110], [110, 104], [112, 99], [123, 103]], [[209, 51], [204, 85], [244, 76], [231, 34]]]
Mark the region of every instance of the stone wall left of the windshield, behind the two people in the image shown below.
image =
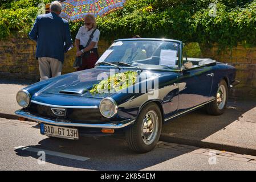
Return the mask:
[[[100, 40], [99, 55], [111, 43]], [[0, 78], [18, 78], [38, 81], [40, 78], [38, 61], [35, 59], [36, 43], [27, 35], [11, 35], [6, 40], [0, 40]], [[65, 54], [63, 74], [74, 72], [72, 67], [76, 49], [73, 48]]]

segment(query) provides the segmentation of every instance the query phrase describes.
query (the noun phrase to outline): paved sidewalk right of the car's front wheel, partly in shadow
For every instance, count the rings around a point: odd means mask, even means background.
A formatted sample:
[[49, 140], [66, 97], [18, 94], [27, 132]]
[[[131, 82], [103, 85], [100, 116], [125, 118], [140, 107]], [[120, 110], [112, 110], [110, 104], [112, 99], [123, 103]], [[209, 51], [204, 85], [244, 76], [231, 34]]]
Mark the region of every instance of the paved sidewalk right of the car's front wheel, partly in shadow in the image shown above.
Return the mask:
[[162, 128], [164, 142], [189, 144], [256, 155], [256, 101], [230, 100], [224, 114], [201, 109], [174, 119]]

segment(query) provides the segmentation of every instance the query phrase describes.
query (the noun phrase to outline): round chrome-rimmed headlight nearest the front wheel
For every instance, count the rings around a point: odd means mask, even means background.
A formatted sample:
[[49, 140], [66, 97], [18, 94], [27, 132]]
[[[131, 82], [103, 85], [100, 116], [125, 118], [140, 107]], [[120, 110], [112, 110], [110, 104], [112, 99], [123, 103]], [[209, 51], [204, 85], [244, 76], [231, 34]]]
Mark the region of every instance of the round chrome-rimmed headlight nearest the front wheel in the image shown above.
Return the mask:
[[106, 118], [113, 117], [117, 113], [116, 101], [112, 98], [104, 98], [100, 102], [100, 113]]

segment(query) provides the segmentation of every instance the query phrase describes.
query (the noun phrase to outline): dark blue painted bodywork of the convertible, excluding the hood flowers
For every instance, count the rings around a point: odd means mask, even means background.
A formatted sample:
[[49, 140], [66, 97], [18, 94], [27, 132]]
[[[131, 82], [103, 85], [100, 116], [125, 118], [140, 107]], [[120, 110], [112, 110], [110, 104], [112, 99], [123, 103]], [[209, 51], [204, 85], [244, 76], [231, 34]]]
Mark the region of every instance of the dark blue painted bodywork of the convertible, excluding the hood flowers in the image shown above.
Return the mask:
[[[129, 68], [121, 69], [120, 72], [125, 72], [127, 69]], [[115, 69], [115, 71], [118, 72], [118, 69]], [[100, 80], [97, 80], [97, 75], [100, 73], [109, 75], [109, 67], [101, 66], [68, 73], [38, 82], [25, 89], [31, 94], [31, 100], [52, 105], [99, 106], [102, 98], [111, 97], [119, 106], [116, 116], [111, 118], [111, 121], [123, 121], [128, 118], [136, 119], [145, 105], [156, 102], [162, 111], [162, 122], [165, 122], [170, 120], [168, 118], [185, 113], [185, 111], [192, 111], [195, 106], [212, 101], [216, 97], [220, 81], [224, 79], [229, 86], [235, 78], [235, 68], [222, 63], [184, 71], [150, 70], [147, 73], [159, 79], [159, 94], [148, 100], [148, 96], [151, 96], [149, 92], [90, 94], [87, 90], [100, 82]], [[141, 74], [144, 73], [145, 71]], [[214, 76], [208, 76], [210, 73], [213, 73]], [[139, 84], [141, 85], [141, 82]], [[83, 94], [59, 93], [66, 89], [74, 91], [83, 89]]]

